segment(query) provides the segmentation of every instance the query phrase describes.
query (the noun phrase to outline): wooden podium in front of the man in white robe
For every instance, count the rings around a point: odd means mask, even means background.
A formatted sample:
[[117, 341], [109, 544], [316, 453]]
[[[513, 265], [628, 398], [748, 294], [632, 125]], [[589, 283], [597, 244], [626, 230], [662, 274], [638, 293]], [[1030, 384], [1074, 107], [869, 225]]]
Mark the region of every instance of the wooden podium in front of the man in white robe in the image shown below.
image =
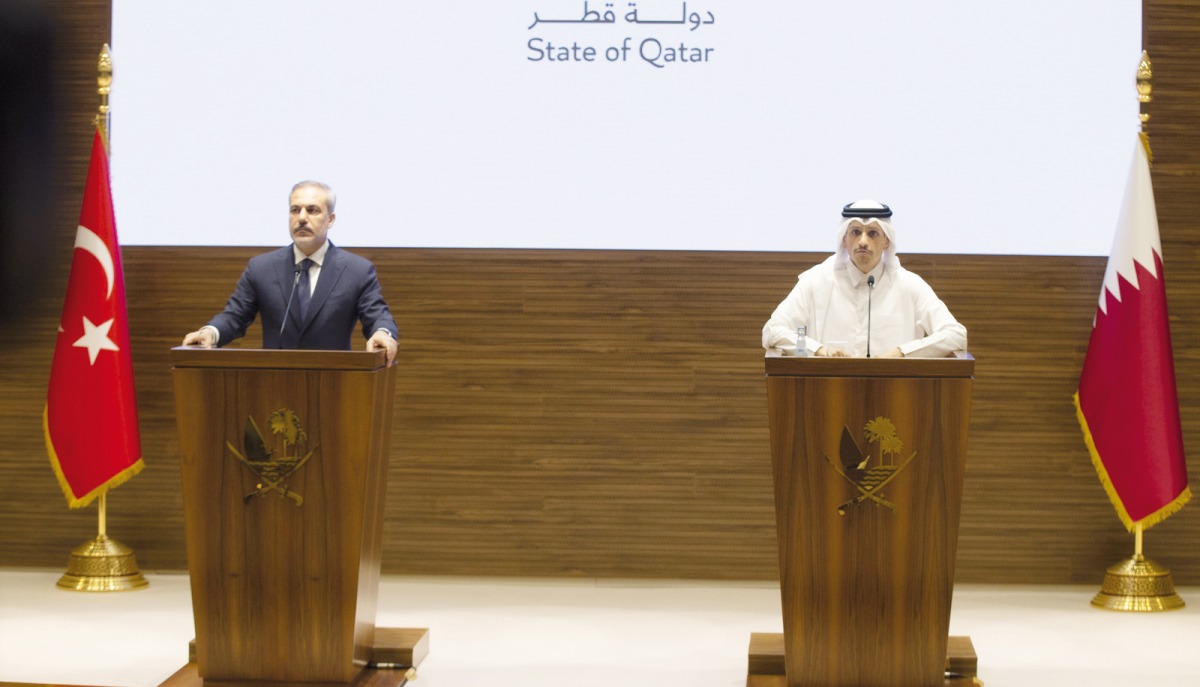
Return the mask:
[[974, 360], [768, 353], [784, 634], [750, 687], [974, 685], [948, 638]]

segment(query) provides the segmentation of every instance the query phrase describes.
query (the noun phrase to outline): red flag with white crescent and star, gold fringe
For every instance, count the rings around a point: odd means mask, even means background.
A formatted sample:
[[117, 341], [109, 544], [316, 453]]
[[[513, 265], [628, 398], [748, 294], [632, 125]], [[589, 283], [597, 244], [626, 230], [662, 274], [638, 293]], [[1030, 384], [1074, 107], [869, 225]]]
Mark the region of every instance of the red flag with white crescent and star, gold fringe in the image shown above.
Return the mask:
[[72, 508], [142, 471], [125, 273], [100, 129], [91, 145], [43, 424], [50, 464]]

